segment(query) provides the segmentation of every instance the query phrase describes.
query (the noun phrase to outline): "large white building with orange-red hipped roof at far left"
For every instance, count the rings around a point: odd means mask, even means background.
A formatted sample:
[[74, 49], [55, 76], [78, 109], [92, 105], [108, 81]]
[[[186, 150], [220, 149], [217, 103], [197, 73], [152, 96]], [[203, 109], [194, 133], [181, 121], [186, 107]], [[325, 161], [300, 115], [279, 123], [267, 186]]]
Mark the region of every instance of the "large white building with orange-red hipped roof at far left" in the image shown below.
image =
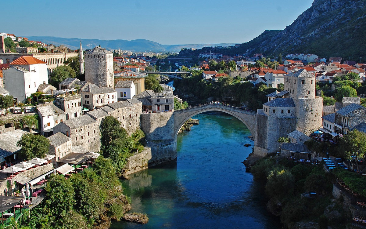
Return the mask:
[[22, 56], [10, 63], [10, 69], [3, 71], [4, 88], [17, 101], [37, 92], [40, 84], [48, 84], [47, 64], [33, 56]]

